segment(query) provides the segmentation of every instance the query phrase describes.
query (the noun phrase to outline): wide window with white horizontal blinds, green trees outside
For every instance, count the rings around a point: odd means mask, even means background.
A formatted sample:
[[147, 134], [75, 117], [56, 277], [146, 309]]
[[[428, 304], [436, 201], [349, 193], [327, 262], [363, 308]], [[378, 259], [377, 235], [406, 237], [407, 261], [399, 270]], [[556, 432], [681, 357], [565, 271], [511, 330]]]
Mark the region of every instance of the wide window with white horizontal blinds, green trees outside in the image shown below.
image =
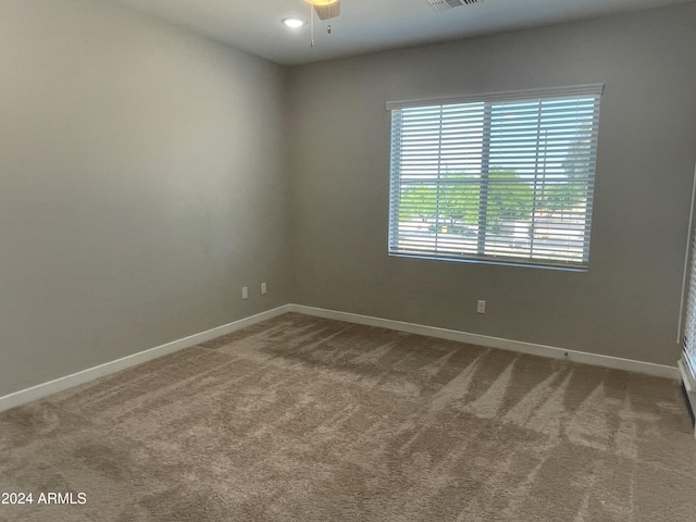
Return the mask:
[[601, 90], [387, 103], [389, 253], [585, 269]]

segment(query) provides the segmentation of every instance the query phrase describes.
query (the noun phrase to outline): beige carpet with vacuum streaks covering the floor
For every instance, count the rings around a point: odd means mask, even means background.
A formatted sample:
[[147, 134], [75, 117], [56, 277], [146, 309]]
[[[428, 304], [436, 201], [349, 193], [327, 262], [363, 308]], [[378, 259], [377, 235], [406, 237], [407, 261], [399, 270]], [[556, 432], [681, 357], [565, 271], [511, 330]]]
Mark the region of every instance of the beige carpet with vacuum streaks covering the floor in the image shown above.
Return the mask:
[[2, 521], [694, 521], [696, 442], [676, 382], [286, 314], [0, 414], [0, 492], [34, 495]]

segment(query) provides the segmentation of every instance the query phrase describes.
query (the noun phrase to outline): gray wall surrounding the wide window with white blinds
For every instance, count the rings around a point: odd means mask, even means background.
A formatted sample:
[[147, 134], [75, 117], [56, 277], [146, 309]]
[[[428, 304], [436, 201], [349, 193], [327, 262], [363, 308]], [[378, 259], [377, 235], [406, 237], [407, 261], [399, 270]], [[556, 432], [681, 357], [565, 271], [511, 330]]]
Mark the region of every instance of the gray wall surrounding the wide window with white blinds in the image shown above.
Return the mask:
[[[674, 365], [695, 49], [691, 3], [294, 67], [296, 302]], [[387, 256], [386, 101], [591, 83], [606, 88], [588, 272]]]

